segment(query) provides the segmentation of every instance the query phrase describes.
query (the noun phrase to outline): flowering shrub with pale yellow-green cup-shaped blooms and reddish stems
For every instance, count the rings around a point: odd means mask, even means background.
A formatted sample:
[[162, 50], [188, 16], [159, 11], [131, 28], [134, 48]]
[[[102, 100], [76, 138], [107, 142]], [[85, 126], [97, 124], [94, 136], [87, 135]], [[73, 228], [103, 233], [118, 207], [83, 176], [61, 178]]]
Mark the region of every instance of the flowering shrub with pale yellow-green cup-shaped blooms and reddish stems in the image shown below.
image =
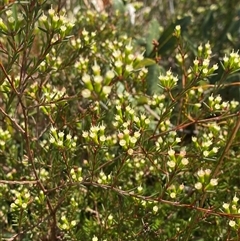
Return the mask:
[[238, 50], [177, 24], [171, 68], [126, 12], [60, 5], [0, 8], [1, 239], [239, 238]]

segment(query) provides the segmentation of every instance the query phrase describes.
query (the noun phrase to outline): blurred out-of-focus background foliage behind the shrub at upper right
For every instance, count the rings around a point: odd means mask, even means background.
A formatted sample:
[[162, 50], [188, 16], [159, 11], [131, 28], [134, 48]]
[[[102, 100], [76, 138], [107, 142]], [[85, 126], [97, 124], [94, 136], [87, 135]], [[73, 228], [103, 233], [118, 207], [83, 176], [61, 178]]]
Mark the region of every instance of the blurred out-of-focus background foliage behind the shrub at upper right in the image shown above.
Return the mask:
[[[146, 51], [146, 57], [159, 60], [157, 65], [149, 69], [148, 94], [153, 94], [157, 89], [157, 77], [160, 71], [169, 68], [176, 72], [180, 71], [174, 60], [177, 40], [172, 34], [176, 25], [180, 24], [182, 27], [183, 47], [192, 60], [197, 54], [197, 47], [207, 42], [211, 44], [214, 53], [213, 61], [219, 60], [219, 57], [221, 60], [226, 53], [240, 48], [239, 0], [51, 0], [47, 2], [48, 7], [51, 4], [58, 5], [59, 9], [64, 6], [73, 12], [89, 8], [98, 12], [104, 9], [110, 13], [119, 11], [118, 19], [109, 15], [108, 24], [115, 25], [119, 34], [121, 31], [127, 33], [137, 47], [142, 47], [142, 50]], [[133, 14], [134, 23], [131, 23]], [[153, 40], [158, 42], [157, 49], [154, 49]], [[218, 71], [218, 75], [214, 75], [210, 83], [216, 83], [222, 72]], [[236, 73], [227, 79], [226, 83], [237, 82], [239, 78], [239, 73]], [[239, 100], [240, 88], [232, 87], [230, 84], [221, 94], [226, 100]]]

